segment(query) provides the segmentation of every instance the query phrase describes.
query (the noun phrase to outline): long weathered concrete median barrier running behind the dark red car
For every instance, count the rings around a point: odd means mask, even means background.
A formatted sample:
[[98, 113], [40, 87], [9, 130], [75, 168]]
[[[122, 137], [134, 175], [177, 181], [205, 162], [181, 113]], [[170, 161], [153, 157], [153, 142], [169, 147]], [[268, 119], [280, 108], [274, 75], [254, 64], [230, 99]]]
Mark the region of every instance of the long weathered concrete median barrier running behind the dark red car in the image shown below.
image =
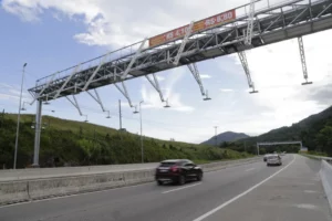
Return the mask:
[[[201, 165], [205, 172], [251, 164], [261, 157]], [[76, 194], [154, 181], [154, 169], [82, 173], [42, 179], [0, 182], [0, 206], [51, 197]]]

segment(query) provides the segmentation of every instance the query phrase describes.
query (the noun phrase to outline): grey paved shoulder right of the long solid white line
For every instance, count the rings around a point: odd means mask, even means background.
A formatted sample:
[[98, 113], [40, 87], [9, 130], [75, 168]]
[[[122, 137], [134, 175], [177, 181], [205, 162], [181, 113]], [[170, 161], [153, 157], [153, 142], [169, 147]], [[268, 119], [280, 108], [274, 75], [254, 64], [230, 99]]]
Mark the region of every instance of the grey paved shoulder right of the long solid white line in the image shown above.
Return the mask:
[[332, 220], [319, 169], [320, 162], [297, 155], [289, 168], [205, 220]]

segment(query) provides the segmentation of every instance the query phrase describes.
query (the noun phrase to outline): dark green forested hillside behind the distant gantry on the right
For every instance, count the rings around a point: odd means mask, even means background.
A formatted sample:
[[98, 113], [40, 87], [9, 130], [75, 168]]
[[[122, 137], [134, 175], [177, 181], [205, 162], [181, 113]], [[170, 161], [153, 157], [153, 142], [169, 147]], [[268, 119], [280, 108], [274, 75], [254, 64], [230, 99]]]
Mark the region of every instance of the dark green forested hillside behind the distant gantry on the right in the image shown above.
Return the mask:
[[[290, 127], [281, 127], [258, 137], [241, 139], [230, 146], [235, 150], [242, 151], [246, 144], [250, 151], [255, 151], [257, 141], [286, 140], [302, 140], [303, 146], [308, 147], [310, 151], [324, 152], [332, 156], [332, 107], [293, 124]], [[297, 149], [298, 146], [276, 146], [262, 148], [262, 150], [271, 151], [283, 149], [295, 151], [294, 148]]]

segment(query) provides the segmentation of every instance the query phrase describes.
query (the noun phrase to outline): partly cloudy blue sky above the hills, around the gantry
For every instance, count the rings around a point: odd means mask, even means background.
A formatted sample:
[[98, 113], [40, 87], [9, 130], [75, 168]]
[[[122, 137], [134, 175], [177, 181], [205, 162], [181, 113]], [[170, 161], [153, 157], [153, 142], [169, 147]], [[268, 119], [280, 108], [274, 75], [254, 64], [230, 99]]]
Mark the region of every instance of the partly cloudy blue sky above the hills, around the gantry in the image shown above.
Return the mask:
[[[280, 0], [269, 0], [278, 3]], [[34, 114], [28, 88], [35, 81], [110, 51], [188, 24], [248, 0], [2, 0], [0, 1], [0, 108], [17, 113], [22, 67], [27, 62], [23, 102]], [[263, 0], [259, 7], [264, 7]], [[149, 137], [200, 143], [215, 134], [232, 130], [257, 136], [290, 126], [332, 103], [332, 31], [303, 36], [309, 80], [303, 82], [298, 40], [247, 51], [258, 94], [249, 94], [247, 78], [236, 54], [197, 63], [209, 102], [186, 66], [156, 73], [170, 108], [164, 108], [158, 93], [146, 78], [126, 82], [135, 105], [142, 105], [143, 134]], [[77, 95], [84, 115], [92, 124], [118, 128], [118, 99], [123, 127], [139, 133], [139, 115], [125, 97], [107, 85], [98, 93], [112, 118], [105, 118], [86, 93]], [[51, 110], [55, 110], [54, 113]], [[84, 120], [65, 98], [43, 106], [43, 115]]]

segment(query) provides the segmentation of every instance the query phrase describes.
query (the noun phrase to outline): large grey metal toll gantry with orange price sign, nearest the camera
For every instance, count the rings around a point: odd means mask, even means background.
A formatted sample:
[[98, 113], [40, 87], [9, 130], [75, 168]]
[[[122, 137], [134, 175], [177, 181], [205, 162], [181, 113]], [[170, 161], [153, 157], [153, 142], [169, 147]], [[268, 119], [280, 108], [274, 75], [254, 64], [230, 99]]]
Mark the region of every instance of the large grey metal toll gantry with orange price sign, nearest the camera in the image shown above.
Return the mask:
[[[114, 85], [134, 107], [125, 82], [144, 76], [164, 97], [155, 73], [187, 65], [199, 85], [205, 101], [210, 99], [203, 85], [198, 62], [237, 53], [248, 80], [250, 93], [257, 93], [251, 80], [246, 50], [298, 38], [305, 84], [308, 80], [302, 36], [332, 28], [332, 0], [289, 0], [271, 6], [269, 0], [250, 3], [229, 11], [191, 21], [189, 24], [144, 39], [123, 49], [80, 63], [37, 81], [29, 90], [38, 102], [35, 116], [34, 165], [38, 166], [42, 102], [65, 97], [81, 116], [76, 94], [86, 92], [103, 106], [97, 88]], [[300, 65], [300, 64], [299, 64]]]

